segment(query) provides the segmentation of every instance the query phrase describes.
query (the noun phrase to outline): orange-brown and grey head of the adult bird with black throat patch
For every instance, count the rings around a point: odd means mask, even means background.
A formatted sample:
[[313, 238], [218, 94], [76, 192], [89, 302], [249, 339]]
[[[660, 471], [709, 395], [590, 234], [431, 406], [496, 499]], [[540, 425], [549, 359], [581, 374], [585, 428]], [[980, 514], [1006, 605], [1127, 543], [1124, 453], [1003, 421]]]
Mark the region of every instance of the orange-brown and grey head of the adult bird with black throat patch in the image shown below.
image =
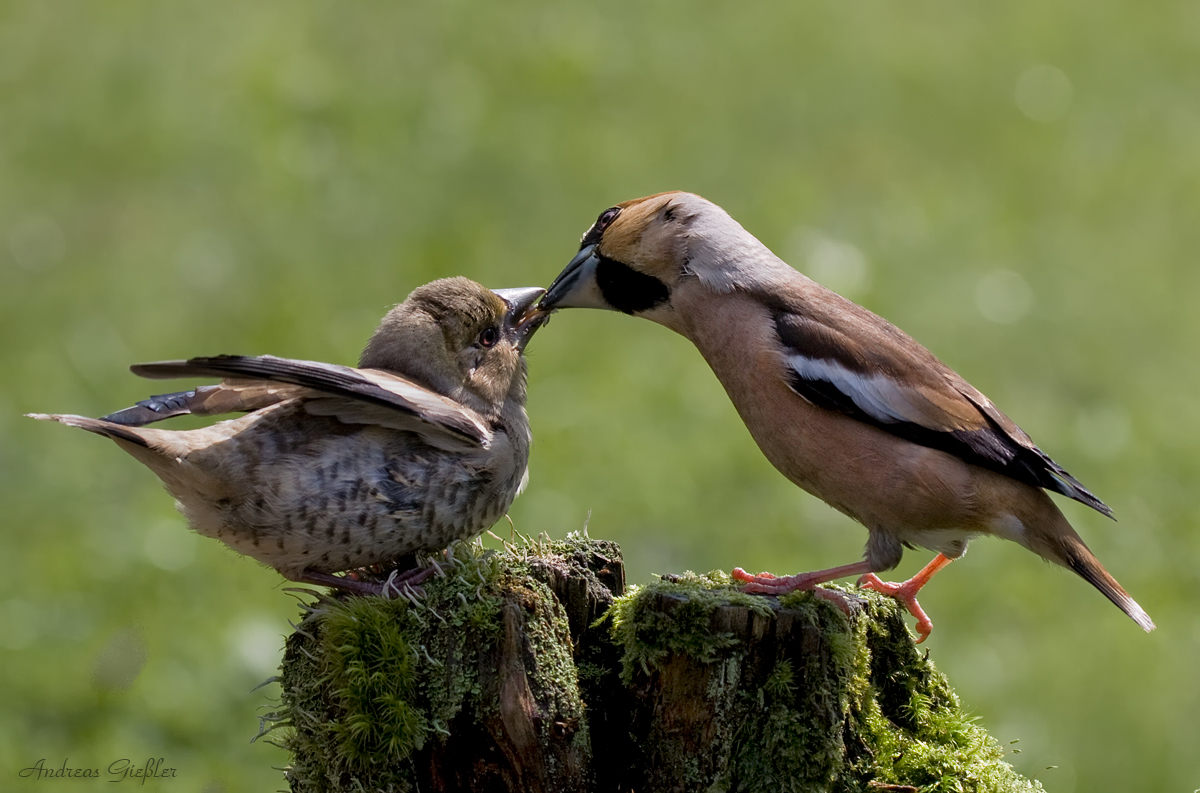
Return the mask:
[[541, 308], [608, 308], [670, 324], [689, 282], [718, 292], [786, 268], [709, 200], [671, 192], [606, 209], [542, 298]]

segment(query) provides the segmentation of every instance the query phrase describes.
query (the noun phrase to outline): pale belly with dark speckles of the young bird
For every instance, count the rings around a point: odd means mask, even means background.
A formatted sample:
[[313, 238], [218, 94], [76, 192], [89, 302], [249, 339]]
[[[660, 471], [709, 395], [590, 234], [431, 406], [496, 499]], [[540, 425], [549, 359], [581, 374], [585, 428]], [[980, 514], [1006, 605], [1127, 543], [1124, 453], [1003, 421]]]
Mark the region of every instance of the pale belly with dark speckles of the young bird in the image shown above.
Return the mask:
[[190, 456], [208, 486], [169, 487], [193, 529], [287, 577], [384, 564], [474, 536], [504, 515], [524, 473], [526, 459], [506, 444], [500, 458], [463, 455], [412, 433], [301, 420], [304, 432], [250, 426], [218, 453]]

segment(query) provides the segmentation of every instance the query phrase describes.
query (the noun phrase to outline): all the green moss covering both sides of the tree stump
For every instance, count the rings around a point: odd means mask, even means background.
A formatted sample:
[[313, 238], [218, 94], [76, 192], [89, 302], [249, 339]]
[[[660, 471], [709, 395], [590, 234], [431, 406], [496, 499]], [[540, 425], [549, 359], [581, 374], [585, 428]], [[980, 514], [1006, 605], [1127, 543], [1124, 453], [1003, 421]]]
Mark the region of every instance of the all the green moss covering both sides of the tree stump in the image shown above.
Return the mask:
[[[306, 606], [288, 639], [276, 715], [288, 727], [293, 791], [416, 789], [414, 752], [469, 725], [494, 723], [498, 703], [481, 696], [480, 677], [492, 673], [488, 655], [506, 624], [523, 632], [521, 668], [556, 714], [539, 728], [570, 729], [581, 758], [589, 734], [599, 735], [588, 719], [605, 709], [595, 729], [605, 731], [612, 758], [600, 763], [673, 761], [688, 789], [848, 793], [871, 782], [923, 793], [1042, 789], [1004, 762], [1003, 749], [918, 651], [895, 601], [875, 593], [841, 590], [858, 603], [850, 619], [810, 593], [776, 601], [742, 593], [724, 572], [684, 573], [618, 597], [604, 618], [614, 643], [572, 648], [571, 624], [578, 641], [581, 631], [602, 633], [604, 620], [588, 627], [592, 617], [580, 618], [580, 602], [593, 602], [587, 597], [575, 597], [569, 615], [547, 571], [592, 564], [596, 547], [577, 536], [522, 537], [500, 552], [457, 543], [442, 559], [445, 575], [427, 582], [416, 602], [320, 597]], [[584, 581], [588, 597], [593, 579], [571, 577]], [[715, 612], [727, 606], [751, 621], [786, 615], [794, 641], [751, 647], [714, 629], [724, 624]], [[712, 669], [696, 695], [712, 713], [709, 747], [680, 755], [655, 746], [653, 734], [644, 746], [625, 746], [622, 714], [634, 702], [625, 698], [680, 657]]]

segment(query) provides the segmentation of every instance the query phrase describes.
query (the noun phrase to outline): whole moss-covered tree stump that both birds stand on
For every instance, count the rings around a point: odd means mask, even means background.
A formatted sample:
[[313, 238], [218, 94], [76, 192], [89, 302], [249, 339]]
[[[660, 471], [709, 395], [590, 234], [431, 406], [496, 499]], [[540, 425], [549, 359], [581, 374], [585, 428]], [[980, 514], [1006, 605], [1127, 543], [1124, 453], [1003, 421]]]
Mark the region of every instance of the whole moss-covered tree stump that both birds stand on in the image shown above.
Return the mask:
[[288, 638], [296, 793], [1037, 791], [965, 716], [895, 605], [625, 591], [571, 536], [458, 543], [415, 602], [320, 597]]

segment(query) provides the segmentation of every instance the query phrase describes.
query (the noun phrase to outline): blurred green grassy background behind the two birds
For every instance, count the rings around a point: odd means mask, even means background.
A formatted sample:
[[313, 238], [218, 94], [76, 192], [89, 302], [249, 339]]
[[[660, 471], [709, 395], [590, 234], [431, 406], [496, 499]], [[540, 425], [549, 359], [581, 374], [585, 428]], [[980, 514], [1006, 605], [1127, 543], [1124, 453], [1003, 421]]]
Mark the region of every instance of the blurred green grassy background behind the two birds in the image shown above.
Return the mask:
[[[20, 414], [169, 390], [134, 361], [353, 362], [418, 284], [545, 286], [600, 210], [682, 188], [1116, 510], [1063, 501], [1152, 635], [998, 541], [922, 597], [1015, 767], [1200, 787], [1198, 52], [1180, 1], [4, 0], [0, 785], [163, 757], [157, 789], [282, 787], [284, 753], [248, 743], [277, 689], [250, 689], [296, 615], [112, 444]], [[682, 338], [568, 312], [529, 361], [521, 531], [590, 511], [634, 582], [858, 558], [865, 531], [770, 468]]]

